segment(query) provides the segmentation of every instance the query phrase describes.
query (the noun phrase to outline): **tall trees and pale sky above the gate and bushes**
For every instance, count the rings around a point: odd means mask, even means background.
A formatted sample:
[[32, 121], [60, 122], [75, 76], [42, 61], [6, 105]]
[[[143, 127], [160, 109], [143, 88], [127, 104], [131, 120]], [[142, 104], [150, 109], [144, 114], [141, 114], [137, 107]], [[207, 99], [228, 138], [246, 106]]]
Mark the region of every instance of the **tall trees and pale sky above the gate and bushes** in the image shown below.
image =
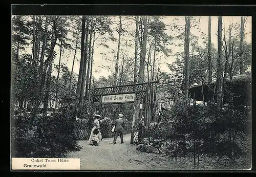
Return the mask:
[[161, 104], [218, 72], [223, 82], [250, 75], [251, 18], [218, 23], [217, 16], [13, 16], [13, 105], [79, 109], [93, 87], [153, 81], [152, 102]]

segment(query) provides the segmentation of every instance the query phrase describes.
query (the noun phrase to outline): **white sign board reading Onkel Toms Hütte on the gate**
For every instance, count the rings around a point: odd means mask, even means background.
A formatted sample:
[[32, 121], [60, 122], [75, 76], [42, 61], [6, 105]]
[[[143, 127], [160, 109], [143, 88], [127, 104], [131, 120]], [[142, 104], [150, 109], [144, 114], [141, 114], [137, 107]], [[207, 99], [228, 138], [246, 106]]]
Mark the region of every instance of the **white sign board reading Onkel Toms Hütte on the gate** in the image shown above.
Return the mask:
[[134, 101], [135, 101], [135, 93], [102, 95], [100, 100], [101, 104], [133, 103]]

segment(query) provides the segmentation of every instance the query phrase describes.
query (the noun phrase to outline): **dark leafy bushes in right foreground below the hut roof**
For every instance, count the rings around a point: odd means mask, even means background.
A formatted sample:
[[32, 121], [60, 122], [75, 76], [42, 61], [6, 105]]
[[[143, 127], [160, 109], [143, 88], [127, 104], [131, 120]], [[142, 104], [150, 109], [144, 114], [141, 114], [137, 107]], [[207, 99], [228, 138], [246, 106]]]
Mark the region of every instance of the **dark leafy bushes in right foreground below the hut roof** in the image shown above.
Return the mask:
[[[174, 106], [151, 127], [153, 139], [164, 139], [167, 157], [199, 162], [210, 160], [213, 168], [249, 169], [251, 159], [250, 108], [229, 105]], [[204, 165], [204, 164], [202, 164]]]

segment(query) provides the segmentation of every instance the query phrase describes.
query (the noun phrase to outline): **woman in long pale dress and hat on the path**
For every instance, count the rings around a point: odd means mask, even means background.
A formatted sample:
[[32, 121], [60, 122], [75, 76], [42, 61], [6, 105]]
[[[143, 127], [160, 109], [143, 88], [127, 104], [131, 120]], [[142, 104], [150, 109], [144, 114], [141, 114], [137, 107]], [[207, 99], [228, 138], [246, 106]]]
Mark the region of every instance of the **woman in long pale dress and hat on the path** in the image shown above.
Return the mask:
[[88, 141], [88, 143], [91, 145], [99, 145], [100, 140], [102, 139], [101, 132], [100, 132], [100, 126], [99, 126], [100, 118], [101, 118], [100, 115], [94, 116], [93, 128], [92, 128], [90, 138]]

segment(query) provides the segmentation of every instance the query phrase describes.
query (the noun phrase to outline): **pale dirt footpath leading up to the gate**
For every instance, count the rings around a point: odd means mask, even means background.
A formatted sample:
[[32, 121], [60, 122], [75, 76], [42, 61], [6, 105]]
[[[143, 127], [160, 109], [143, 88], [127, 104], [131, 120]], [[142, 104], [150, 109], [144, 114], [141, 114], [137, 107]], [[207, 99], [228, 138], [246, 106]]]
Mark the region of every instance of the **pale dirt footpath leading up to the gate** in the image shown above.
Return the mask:
[[[113, 144], [113, 138], [103, 139], [99, 146], [88, 145], [86, 141], [78, 144], [82, 149], [68, 154], [68, 158], [80, 158], [81, 170], [171, 170], [177, 169], [160, 154], [136, 150], [137, 145], [130, 144], [131, 134], [120, 137]], [[164, 164], [162, 164], [164, 163]]]

